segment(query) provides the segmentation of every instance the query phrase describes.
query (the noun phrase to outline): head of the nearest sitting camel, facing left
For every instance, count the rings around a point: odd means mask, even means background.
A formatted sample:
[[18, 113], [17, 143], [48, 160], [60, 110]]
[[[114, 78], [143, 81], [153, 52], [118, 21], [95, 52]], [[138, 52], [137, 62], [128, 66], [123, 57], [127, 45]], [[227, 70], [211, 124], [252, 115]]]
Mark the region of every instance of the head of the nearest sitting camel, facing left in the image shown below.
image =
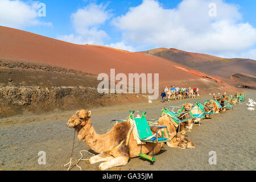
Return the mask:
[[91, 111], [80, 110], [76, 111], [76, 114], [72, 115], [72, 117], [68, 120], [68, 127], [83, 127], [86, 125], [86, 122], [90, 118]]

